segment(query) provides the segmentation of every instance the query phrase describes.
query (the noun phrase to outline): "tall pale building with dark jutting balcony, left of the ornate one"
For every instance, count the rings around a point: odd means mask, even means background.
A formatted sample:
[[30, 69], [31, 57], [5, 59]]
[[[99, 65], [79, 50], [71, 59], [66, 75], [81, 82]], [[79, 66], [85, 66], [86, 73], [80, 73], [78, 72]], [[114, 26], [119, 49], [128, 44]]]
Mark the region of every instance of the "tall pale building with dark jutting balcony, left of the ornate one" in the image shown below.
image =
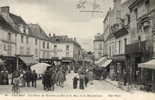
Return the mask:
[[110, 9], [103, 21], [104, 47], [107, 57], [113, 59], [111, 70], [122, 76], [126, 70], [125, 47], [130, 43], [129, 24], [130, 12], [128, 6], [131, 0], [122, 3], [122, 0], [113, 0], [113, 9]]

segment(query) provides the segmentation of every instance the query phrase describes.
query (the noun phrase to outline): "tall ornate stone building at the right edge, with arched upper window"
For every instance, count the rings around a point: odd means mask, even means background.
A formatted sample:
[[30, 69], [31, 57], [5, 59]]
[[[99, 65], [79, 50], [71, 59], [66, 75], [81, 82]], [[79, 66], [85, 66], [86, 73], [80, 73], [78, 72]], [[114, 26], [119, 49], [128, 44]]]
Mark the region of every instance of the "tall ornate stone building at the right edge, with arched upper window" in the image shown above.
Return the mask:
[[[154, 0], [135, 0], [129, 6], [131, 14], [131, 43], [127, 45], [126, 53], [129, 56], [128, 62], [131, 69], [130, 75], [132, 82], [146, 81], [146, 83], [149, 83], [150, 81], [154, 82], [155, 80], [153, 77], [153, 70], [143, 70], [138, 68], [139, 63], [147, 62], [154, 57], [154, 5]], [[143, 66], [143, 64], [140, 65], [140, 67], [146, 66]], [[154, 68], [151, 67], [150, 69]], [[147, 77], [144, 75], [145, 71], [147, 72], [147, 75], [145, 73]]]

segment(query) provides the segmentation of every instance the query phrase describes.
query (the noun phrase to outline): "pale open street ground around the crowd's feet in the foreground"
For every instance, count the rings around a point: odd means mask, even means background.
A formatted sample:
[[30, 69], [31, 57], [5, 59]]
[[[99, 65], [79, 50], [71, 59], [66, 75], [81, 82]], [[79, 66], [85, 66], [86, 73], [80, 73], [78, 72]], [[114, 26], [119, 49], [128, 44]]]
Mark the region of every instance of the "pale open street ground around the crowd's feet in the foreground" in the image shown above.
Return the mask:
[[[72, 79], [74, 73], [70, 73], [67, 75], [67, 80], [64, 82], [64, 87], [55, 86], [55, 91], [48, 91], [48, 93], [126, 93], [125, 91], [113, 86], [112, 84], [104, 81], [104, 80], [94, 80], [93, 84], [88, 84], [88, 86], [84, 90], [73, 89]], [[0, 86], [0, 94], [8, 94], [11, 93], [11, 86]], [[42, 81], [37, 81], [37, 88], [33, 87], [23, 87], [21, 88], [21, 94], [25, 93], [47, 93], [47, 91], [43, 90]]]

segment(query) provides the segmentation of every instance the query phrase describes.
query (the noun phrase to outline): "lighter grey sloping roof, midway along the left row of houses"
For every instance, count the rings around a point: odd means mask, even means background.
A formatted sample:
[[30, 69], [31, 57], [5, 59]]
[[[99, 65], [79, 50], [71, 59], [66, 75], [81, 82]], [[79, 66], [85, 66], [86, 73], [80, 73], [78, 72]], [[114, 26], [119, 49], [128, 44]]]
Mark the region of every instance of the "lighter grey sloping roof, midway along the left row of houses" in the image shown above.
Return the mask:
[[49, 40], [45, 31], [38, 24], [29, 24], [30, 35], [43, 40]]

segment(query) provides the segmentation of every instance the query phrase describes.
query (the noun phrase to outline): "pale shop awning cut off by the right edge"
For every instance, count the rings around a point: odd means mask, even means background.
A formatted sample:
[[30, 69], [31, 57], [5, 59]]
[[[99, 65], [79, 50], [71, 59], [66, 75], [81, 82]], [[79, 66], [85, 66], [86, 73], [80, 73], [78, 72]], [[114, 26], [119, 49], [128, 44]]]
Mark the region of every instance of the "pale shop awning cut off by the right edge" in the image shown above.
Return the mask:
[[147, 69], [155, 69], [155, 59], [152, 59], [152, 60], [147, 61], [145, 63], [140, 63], [140, 64], [138, 64], [138, 67], [147, 68]]

